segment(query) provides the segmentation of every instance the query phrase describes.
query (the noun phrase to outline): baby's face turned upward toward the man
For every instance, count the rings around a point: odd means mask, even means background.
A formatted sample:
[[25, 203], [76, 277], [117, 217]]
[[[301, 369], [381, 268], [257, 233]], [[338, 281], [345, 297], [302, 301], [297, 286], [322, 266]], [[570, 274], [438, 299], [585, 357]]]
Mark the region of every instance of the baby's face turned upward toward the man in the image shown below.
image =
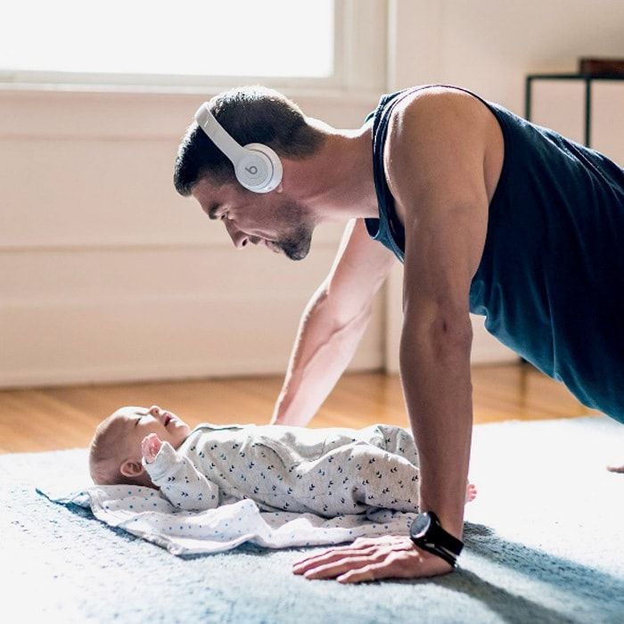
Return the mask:
[[141, 457], [141, 442], [150, 433], [156, 433], [163, 442], [179, 447], [191, 433], [191, 428], [177, 415], [159, 406], [120, 407], [115, 413], [123, 428], [123, 439], [127, 440], [131, 452]]

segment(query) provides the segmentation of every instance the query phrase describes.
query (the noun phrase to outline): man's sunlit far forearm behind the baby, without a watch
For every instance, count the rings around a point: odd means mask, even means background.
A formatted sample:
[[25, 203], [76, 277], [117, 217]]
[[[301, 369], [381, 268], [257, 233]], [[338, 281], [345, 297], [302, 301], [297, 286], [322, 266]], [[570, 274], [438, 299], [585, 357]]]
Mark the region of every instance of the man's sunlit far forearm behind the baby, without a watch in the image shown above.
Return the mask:
[[319, 289], [301, 316], [272, 423], [305, 426], [349, 365], [370, 318], [370, 307], [340, 324]]

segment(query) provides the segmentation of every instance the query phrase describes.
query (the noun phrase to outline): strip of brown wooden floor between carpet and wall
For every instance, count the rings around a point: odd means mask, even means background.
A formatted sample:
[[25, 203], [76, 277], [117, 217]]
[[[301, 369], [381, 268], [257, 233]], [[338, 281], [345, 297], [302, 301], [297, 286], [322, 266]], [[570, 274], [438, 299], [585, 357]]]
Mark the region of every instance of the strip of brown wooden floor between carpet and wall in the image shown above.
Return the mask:
[[[282, 381], [250, 377], [0, 391], [0, 453], [86, 447], [95, 425], [124, 405], [157, 404], [191, 426], [268, 423]], [[475, 366], [472, 387], [475, 423], [592, 413], [530, 365]], [[311, 426], [373, 423], [406, 426], [398, 377], [344, 375]]]

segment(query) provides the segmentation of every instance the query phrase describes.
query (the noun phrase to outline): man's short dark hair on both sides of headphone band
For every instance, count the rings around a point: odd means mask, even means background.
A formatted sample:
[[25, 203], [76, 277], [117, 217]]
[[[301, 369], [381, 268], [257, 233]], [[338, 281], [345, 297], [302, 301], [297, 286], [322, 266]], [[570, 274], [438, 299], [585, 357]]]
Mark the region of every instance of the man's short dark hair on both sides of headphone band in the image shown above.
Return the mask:
[[[288, 158], [306, 158], [324, 141], [324, 134], [308, 124], [297, 104], [263, 86], [242, 86], [218, 94], [209, 101], [209, 110], [239, 144], [266, 144]], [[204, 176], [218, 184], [236, 179], [230, 160], [193, 122], [177, 150], [173, 176], [177, 192], [190, 195]]]

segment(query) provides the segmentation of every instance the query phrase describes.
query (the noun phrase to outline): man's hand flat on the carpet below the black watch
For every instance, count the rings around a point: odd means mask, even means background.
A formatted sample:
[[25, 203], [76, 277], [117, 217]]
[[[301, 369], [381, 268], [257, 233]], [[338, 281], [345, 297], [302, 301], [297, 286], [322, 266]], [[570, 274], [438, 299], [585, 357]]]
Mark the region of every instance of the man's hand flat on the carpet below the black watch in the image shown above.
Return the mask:
[[332, 548], [294, 564], [292, 571], [306, 579], [363, 580], [417, 579], [446, 574], [451, 566], [425, 553], [407, 537], [357, 538], [349, 546]]

